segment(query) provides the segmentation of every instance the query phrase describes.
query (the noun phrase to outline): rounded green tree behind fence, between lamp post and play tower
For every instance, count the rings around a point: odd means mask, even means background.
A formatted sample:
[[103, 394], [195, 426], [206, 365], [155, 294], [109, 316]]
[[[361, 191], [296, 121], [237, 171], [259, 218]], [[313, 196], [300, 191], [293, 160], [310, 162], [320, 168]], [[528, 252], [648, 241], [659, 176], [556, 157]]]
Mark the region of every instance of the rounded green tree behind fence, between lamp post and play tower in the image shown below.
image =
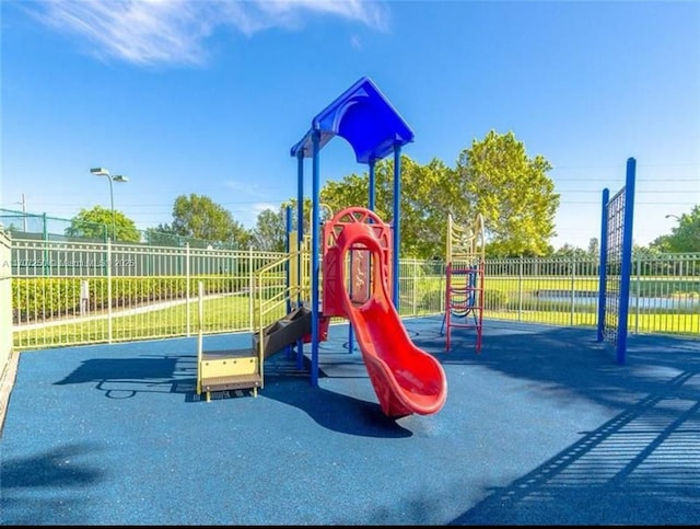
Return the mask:
[[235, 243], [247, 248], [250, 233], [237, 222], [231, 211], [205, 195], [180, 195], [173, 205], [174, 233], [207, 241]]

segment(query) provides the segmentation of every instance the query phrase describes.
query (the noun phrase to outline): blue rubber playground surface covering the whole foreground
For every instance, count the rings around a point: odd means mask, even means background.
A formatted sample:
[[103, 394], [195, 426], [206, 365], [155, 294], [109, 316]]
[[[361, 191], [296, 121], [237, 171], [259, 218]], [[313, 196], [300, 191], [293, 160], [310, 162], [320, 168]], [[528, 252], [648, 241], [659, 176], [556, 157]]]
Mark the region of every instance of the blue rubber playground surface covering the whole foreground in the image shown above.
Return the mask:
[[[442, 363], [433, 415], [386, 417], [348, 325], [318, 387], [284, 352], [265, 387], [196, 386], [196, 338], [25, 352], [0, 437], [2, 525], [695, 525], [700, 341], [405, 320]], [[249, 334], [205, 337], [247, 347]], [[310, 353], [311, 347], [305, 347]], [[202, 395], [203, 396], [203, 395]]]

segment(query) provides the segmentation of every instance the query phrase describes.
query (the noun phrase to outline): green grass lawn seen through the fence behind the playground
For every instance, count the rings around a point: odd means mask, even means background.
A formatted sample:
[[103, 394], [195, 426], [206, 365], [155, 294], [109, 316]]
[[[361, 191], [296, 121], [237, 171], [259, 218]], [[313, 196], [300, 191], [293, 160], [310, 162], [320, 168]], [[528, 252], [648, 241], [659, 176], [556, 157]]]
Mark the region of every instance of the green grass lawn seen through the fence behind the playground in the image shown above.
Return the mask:
[[[537, 290], [575, 290], [596, 291], [596, 279], [562, 278], [487, 278], [486, 307], [483, 318], [515, 320], [532, 323], [544, 323], [563, 326], [596, 326], [597, 312], [595, 304], [573, 310], [568, 297], [557, 301], [539, 299]], [[416, 290], [401, 292], [402, 315], [428, 315], [441, 313], [441, 301], [444, 297], [444, 283], [429, 279], [416, 286]], [[499, 294], [502, 292], [502, 294]], [[517, 292], [523, 292], [517, 294]], [[267, 325], [285, 313], [283, 303], [276, 303], [265, 314]], [[113, 310], [112, 338], [106, 312], [91, 320], [73, 319], [65, 323], [50, 324], [34, 329], [14, 331], [14, 346], [19, 349], [45, 348], [54, 346], [165, 338], [195, 335], [199, 331], [199, 307], [197, 300], [159, 310], [141, 313], [120, 314]], [[249, 332], [257, 321], [250, 313], [248, 296], [222, 296], [203, 301], [203, 333]], [[679, 310], [654, 309], [637, 313], [630, 307], [628, 329], [639, 333], [698, 334], [700, 313], [681, 313]]]

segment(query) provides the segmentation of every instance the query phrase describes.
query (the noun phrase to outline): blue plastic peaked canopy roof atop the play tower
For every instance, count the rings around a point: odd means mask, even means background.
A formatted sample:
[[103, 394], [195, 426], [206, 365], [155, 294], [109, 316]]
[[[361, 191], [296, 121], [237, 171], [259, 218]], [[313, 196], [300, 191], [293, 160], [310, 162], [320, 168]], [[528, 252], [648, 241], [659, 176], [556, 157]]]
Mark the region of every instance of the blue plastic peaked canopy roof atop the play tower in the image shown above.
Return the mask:
[[292, 147], [293, 157], [313, 157], [312, 137], [316, 130], [320, 133], [319, 149], [340, 136], [350, 143], [359, 163], [381, 160], [394, 151], [394, 146], [413, 141], [413, 131], [366, 77], [312, 119], [308, 133]]

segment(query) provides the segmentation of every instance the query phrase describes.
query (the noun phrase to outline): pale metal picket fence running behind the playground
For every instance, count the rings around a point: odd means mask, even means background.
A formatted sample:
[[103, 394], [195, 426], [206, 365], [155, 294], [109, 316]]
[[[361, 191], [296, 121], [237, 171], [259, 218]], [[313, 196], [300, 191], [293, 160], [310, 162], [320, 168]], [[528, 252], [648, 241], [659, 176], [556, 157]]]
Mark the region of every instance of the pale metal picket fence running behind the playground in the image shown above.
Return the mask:
[[[197, 285], [205, 285], [206, 333], [254, 329], [250, 288], [275, 252], [139, 244], [12, 241], [13, 343], [16, 348], [190, 336], [197, 331]], [[637, 333], [700, 336], [700, 254], [640, 257], [631, 280]], [[444, 263], [401, 260], [399, 313], [442, 314]], [[270, 292], [287, 287], [279, 271]], [[486, 262], [485, 318], [595, 326], [595, 260], [512, 258]]]

